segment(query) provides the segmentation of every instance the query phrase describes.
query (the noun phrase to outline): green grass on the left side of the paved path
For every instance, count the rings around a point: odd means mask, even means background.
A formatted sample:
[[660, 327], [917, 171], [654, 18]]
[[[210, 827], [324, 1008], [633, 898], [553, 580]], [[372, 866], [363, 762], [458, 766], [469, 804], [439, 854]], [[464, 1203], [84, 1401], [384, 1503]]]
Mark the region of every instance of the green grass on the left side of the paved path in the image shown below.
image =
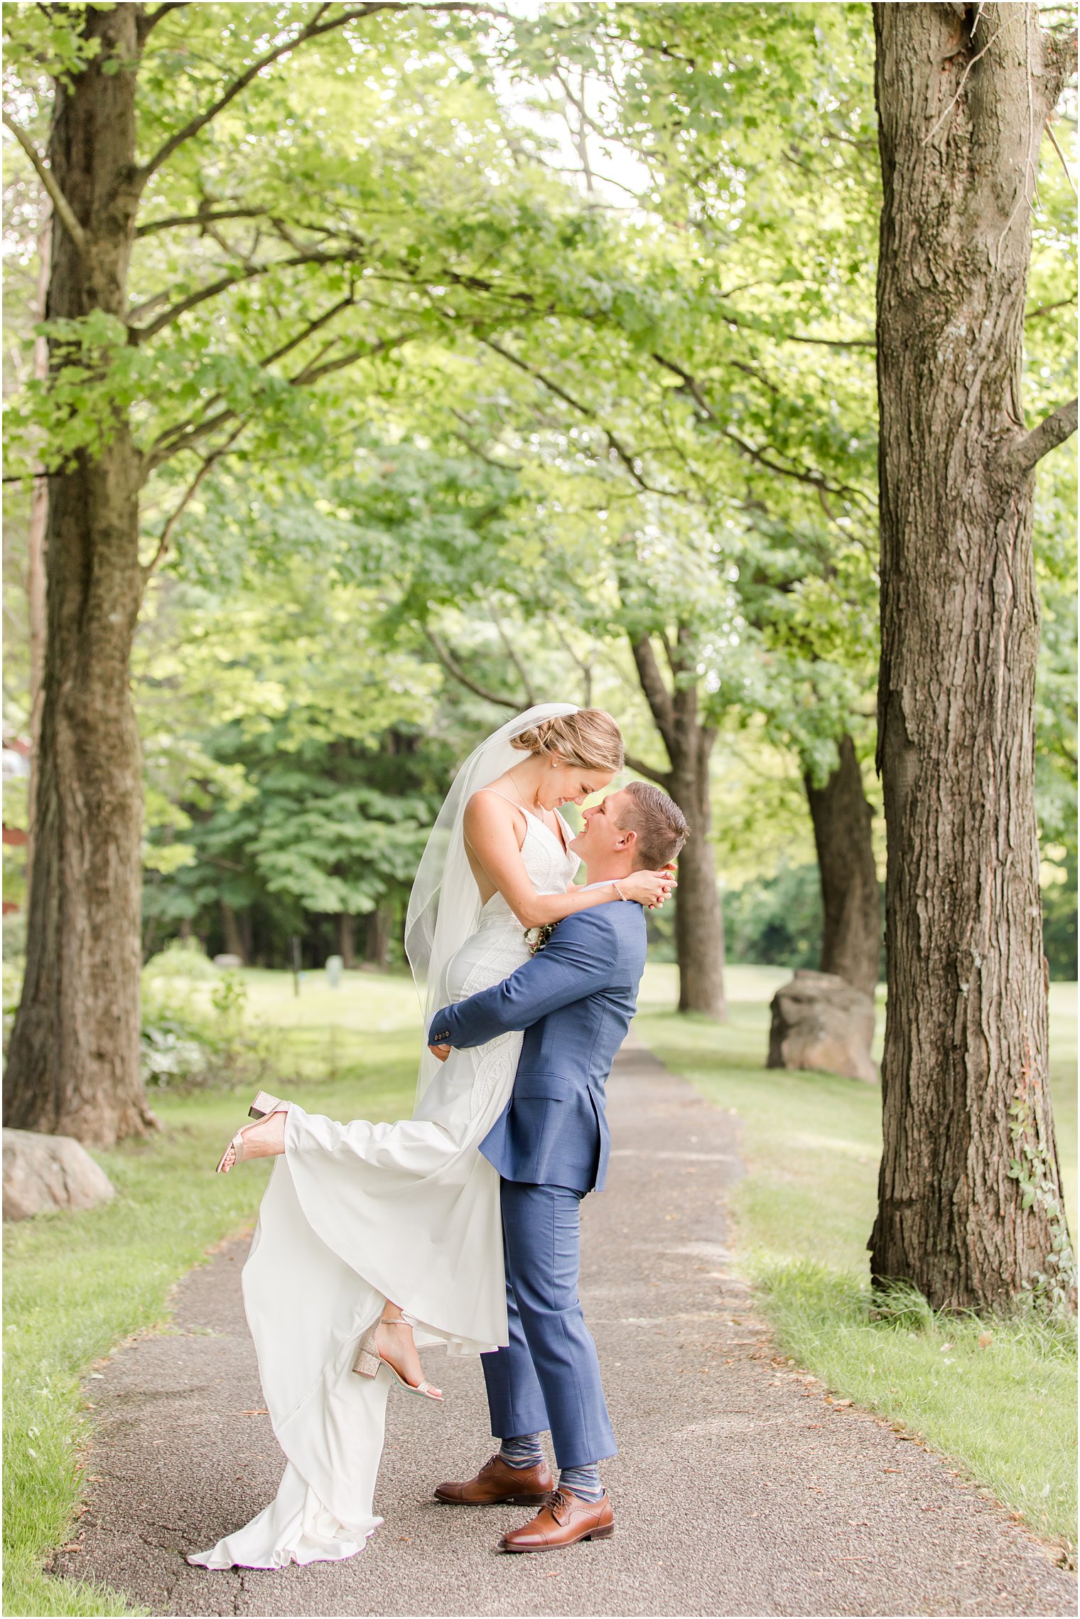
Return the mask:
[[[411, 1112], [419, 1035], [411, 983], [349, 975], [336, 992], [309, 981], [294, 1001], [286, 975], [247, 976], [251, 1015], [281, 1028], [288, 1094], [336, 1117]], [[267, 1166], [213, 1174], [247, 1099], [155, 1098], [160, 1135], [94, 1154], [116, 1187], [110, 1205], [5, 1227], [5, 1614], [133, 1611], [102, 1587], [40, 1572], [42, 1557], [74, 1533], [92, 1421], [84, 1400], [94, 1399], [86, 1392], [94, 1383], [81, 1379], [116, 1344], [157, 1326], [173, 1284], [254, 1219]]]

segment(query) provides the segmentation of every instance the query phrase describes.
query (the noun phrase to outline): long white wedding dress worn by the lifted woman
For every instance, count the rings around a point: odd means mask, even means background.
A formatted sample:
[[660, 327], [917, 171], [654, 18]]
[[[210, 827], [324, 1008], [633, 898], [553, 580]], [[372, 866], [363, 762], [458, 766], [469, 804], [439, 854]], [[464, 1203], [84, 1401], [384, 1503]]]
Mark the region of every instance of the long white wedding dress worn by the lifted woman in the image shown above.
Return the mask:
[[[580, 865], [534, 816], [521, 855], [538, 894], [564, 892]], [[488, 989], [527, 958], [521, 923], [496, 894], [446, 965], [448, 999]], [[500, 1180], [477, 1148], [509, 1099], [521, 1041], [513, 1033], [453, 1051], [398, 1124], [335, 1124], [289, 1106], [243, 1274], [288, 1465], [264, 1512], [189, 1562], [333, 1561], [378, 1528], [390, 1375], [357, 1376], [352, 1362], [385, 1298], [419, 1323], [420, 1345], [475, 1355], [506, 1342]]]

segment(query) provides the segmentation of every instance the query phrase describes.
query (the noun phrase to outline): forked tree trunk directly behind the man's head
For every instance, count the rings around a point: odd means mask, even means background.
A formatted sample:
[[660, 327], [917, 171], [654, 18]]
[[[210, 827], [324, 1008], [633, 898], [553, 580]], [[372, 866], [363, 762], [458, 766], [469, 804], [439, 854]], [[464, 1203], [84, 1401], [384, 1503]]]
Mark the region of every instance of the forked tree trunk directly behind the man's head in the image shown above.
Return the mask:
[[679, 855], [676, 890], [679, 1012], [703, 1012], [723, 1020], [728, 1017], [724, 918], [708, 835], [711, 826], [708, 761], [716, 732], [700, 719], [697, 683], [681, 678], [689, 672], [687, 631], [679, 628], [676, 644], [666, 649], [674, 690], [668, 690], [648, 636], [632, 640], [631, 648], [645, 701], [668, 750], [671, 767], [658, 771], [640, 759], [627, 759], [627, 764], [671, 793], [690, 822], [690, 837]]

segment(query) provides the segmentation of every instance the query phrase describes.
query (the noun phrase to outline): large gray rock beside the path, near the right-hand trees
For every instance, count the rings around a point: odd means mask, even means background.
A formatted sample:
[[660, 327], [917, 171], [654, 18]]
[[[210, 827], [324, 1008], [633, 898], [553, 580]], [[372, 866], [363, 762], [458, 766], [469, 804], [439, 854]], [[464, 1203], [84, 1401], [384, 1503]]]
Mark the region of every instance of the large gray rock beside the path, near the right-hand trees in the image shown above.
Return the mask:
[[873, 1001], [836, 973], [800, 968], [773, 996], [768, 1069], [815, 1069], [873, 1085]]

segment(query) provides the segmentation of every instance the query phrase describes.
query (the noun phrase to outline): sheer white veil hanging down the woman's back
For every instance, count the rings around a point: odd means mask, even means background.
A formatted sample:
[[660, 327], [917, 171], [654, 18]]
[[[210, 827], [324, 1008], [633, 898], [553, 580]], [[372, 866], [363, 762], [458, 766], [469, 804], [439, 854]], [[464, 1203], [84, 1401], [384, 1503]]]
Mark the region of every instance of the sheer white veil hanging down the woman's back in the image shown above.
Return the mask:
[[[537, 703], [491, 732], [454, 776], [420, 856], [406, 916], [406, 955], [424, 1004], [425, 1033], [432, 1017], [449, 1001], [446, 968], [480, 921], [480, 890], [469, 866], [462, 831], [466, 805], [477, 788], [522, 763], [525, 754], [511, 745], [513, 737], [545, 719], [576, 712], [576, 703]], [[417, 1075], [417, 1103], [438, 1069], [438, 1059], [425, 1049]]]

